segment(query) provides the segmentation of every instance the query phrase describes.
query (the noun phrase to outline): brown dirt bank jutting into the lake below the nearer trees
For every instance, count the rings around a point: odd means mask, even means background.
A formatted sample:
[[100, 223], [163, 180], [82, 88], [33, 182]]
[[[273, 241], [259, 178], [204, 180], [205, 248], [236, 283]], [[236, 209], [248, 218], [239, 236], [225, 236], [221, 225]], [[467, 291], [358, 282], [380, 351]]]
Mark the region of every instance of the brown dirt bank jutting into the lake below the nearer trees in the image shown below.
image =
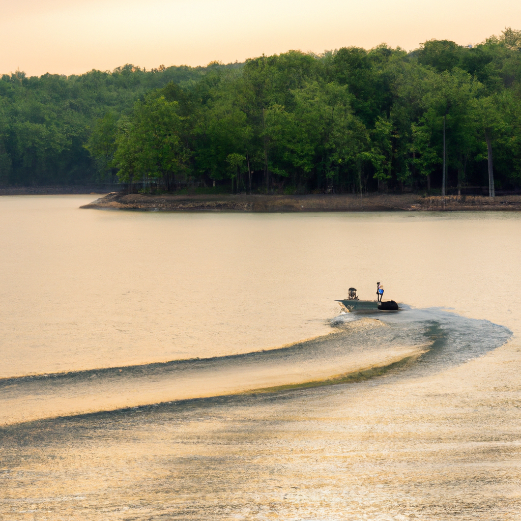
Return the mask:
[[109, 193], [82, 208], [150, 211], [377, 212], [387, 210], [521, 210], [521, 195], [483, 197], [417, 194], [153, 195]]

